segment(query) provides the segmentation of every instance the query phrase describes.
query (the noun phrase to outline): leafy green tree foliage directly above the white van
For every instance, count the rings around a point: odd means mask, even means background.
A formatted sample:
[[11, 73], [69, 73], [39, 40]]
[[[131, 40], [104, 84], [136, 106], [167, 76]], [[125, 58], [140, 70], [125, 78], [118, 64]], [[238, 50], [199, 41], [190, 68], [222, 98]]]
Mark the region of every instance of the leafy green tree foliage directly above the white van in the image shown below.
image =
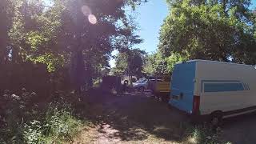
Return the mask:
[[256, 64], [255, 14], [249, 10], [250, 0], [167, 3], [170, 14], [162, 25], [158, 46], [167, 63], [178, 54], [182, 58]]

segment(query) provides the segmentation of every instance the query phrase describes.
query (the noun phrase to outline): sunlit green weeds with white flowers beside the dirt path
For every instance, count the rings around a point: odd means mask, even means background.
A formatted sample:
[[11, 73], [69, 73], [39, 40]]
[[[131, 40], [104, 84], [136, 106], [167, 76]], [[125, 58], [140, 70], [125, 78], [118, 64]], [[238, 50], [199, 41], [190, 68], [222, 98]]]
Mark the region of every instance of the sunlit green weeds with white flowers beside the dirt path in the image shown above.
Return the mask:
[[33, 121], [24, 127], [26, 143], [61, 143], [70, 141], [77, 134], [82, 122], [69, 110], [50, 107], [43, 122]]

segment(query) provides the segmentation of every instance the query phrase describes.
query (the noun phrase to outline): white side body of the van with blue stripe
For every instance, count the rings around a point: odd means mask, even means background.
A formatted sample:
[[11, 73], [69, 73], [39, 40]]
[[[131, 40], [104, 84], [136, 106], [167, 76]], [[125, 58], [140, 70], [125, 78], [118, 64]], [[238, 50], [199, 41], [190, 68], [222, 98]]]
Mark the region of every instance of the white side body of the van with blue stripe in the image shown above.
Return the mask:
[[[198, 61], [195, 74], [194, 95], [200, 96], [201, 114], [256, 106], [256, 70], [254, 66]], [[219, 87], [220, 91], [217, 90], [218, 88], [206, 90], [205, 86], [207, 85], [219, 85], [222, 88]], [[242, 88], [240, 89], [238, 86], [242, 86]]]

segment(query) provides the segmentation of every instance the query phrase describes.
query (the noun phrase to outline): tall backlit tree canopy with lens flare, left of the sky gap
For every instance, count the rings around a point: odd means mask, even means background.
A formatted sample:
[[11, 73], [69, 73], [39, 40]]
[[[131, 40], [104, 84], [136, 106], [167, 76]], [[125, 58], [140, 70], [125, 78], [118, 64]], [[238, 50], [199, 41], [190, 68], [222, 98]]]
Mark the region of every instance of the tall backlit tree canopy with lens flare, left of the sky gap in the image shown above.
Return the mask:
[[[0, 62], [43, 63], [49, 72], [70, 71], [82, 85], [98, 74], [113, 50], [125, 51], [142, 40], [134, 33], [134, 9], [146, 0], [3, 0], [0, 3]], [[129, 46], [128, 46], [129, 45]]]

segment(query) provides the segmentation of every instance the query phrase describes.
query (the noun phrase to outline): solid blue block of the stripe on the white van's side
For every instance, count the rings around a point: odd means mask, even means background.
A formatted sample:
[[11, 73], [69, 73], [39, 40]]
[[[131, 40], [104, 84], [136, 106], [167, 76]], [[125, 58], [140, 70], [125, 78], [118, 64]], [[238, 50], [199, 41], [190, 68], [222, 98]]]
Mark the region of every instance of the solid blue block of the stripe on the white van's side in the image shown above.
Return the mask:
[[245, 90], [242, 83], [204, 83], [204, 92]]

